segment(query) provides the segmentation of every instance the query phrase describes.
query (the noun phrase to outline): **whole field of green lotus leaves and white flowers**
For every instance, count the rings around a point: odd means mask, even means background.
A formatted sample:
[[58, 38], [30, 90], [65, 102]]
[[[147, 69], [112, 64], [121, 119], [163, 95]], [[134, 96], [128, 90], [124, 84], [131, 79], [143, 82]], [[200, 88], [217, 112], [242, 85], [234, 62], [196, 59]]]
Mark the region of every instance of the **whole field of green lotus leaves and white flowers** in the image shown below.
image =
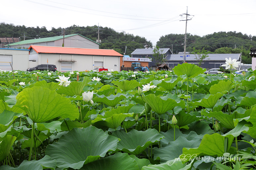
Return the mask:
[[0, 170], [256, 169], [256, 71], [204, 71], [1, 70]]

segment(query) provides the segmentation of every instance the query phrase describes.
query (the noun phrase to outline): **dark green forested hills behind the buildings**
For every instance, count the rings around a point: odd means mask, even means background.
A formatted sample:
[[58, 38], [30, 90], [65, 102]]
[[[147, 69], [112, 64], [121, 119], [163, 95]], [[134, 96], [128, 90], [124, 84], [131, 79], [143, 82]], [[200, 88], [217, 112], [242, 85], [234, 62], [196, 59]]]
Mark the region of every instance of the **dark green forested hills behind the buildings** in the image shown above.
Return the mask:
[[[65, 28], [65, 35], [81, 34], [93, 41], [98, 38], [98, 26], [77, 26]], [[45, 38], [61, 35], [62, 28], [47, 30], [46, 27], [26, 27], [25, 25], [14, 25], [0, 23], [0, 37], [21, 37], [21, 40]], [[110, 27], [99, 27], [100, 49], [113, 49], [121, 54], [125, 51], [130, 55], [137, 48], [153, 48], [152, 42], [145, 37], [125, 32], [117, 32]], [[187, 50], [202, 50], [203, 48], [212, 53], [240, 53], [242, 52], [243, 63], [251, 63], [249, 55], [250, 48], [256, 48], [256, 36], [242, 34], [241, 32], [215, 32], [213, 34], [198, 36], [187, 34]], [[168, 34], [161, 36], [157, 42], [160, 48], [170, 48], [173, 53], [184, 51], [184, 34]]]

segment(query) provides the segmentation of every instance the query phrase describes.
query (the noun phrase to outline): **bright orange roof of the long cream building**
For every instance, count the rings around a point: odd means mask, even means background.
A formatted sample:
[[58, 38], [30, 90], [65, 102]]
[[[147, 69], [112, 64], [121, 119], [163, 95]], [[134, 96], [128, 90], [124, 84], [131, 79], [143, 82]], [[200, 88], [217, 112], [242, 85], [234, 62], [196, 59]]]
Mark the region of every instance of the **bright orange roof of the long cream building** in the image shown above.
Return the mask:
[[69, 47], [50, 47], [50, 46], [30, 46], [37, 53], [58, 53], [58, 54], [82, 54], [82, 55], [106, 55], [106, 56], [123, 56], [114, 50], [105, 49], [81, 49]]

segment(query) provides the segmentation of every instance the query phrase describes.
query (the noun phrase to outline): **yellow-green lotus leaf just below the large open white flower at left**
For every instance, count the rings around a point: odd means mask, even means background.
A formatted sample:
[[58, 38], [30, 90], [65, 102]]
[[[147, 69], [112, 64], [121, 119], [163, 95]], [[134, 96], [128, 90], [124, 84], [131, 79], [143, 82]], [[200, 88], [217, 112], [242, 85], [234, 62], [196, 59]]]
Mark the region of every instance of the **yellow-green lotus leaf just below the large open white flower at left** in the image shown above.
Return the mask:
[[91, 81], [89, 77], [84, 77], [83, 82], [71, 82], [67, 87], [59, 86], [57, 93], [58, 94], [66, 94], [68, 96], [78, 95], [81, 96], [83, 88]]

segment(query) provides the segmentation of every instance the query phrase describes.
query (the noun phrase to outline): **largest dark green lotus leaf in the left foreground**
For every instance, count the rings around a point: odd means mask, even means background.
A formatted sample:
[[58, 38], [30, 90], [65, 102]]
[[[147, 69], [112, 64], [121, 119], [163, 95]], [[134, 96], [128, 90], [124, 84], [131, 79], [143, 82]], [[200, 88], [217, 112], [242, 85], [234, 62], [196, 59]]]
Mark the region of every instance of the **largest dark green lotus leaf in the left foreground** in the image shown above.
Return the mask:
[[116, 137], [94, 126], [73, 128], [62, 135], [58, 143], [48, 145], [45, 154], [56, 159], [61, 170], [68, 167], [80, 169], [84, 164], [104, 157], [108, 151], [116, 150], [117, 142]]

